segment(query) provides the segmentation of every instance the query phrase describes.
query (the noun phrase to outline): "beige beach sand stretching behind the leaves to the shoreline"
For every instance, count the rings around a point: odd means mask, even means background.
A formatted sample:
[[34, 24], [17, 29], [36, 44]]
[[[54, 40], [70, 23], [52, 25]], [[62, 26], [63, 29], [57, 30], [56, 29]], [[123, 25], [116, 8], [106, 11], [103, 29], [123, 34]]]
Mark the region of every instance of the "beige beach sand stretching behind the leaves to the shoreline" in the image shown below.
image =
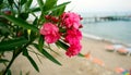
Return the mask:
[[[29, 75], [119, 75], [115, 72], [116, 67], [131, 68], [131, 55], [127, 57], [118, 52], [108, 52], [105, 50], [107, 45], [111, 45], [111, 42], [85, 37], [82, 39], [83, 48], [81, 53], [85, 54], [91, 51], [93, 58], [98, 58], [105, 63], [104, 66], [81, 57], [68, 58], [64, 54], [64, 50], [53, 46], [53, 49], [60, 55], [53, 52], [50, 53], [61, 62], [62, 66], [52, 63], [45, 57], [39, 57], [40, 63], [35, 54], [29, 53], [38, 64], [39, 73], [34, 70], [25, 57], [20, 55], [11, 66], [12, 75], [20, 75], [21, 71], [23, 75], [26, 73]], [[1, 67], [3, 66], [0, 65], [0, 70]]]

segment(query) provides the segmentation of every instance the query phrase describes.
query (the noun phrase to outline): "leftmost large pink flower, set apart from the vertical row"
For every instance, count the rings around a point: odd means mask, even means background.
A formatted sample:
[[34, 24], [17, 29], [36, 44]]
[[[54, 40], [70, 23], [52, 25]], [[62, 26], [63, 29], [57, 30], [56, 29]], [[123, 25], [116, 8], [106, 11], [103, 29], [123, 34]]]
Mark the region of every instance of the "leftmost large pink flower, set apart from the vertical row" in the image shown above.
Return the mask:
[[48, 43], [56, 42], [60, 38], [59, 28], [52, 23], [45, 23], [40, 28], [40, 34], [45, 36]]

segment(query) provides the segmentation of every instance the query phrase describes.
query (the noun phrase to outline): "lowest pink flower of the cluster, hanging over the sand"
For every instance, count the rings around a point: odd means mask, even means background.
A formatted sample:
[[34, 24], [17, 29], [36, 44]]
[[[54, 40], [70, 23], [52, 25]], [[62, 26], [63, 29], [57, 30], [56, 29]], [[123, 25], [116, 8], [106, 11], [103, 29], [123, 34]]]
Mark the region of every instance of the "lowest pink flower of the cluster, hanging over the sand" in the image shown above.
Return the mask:
[[66, 54], [70, 58], [78, 55], [81, 49], [82, 49], [82, 46], [80, 43], [71, 45], [70, 48], [67, 50]]

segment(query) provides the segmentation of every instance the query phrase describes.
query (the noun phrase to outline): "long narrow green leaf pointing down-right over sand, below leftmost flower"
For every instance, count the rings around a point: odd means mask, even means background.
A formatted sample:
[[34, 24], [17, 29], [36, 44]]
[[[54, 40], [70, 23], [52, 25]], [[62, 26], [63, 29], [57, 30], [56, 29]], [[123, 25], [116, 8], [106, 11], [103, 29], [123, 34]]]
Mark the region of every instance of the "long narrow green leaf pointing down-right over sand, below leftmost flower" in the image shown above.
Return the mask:
[[45, 49], [39, 50], [38, 45], [34, 43], [34, 47], [41, 53], [44, 54], [47, 59], [49, 59], [50, 61], [52, 61], [53, 63], [61, 65], [61, 63], [59, 61], [57, 61], [51, 54], [49, 54]]

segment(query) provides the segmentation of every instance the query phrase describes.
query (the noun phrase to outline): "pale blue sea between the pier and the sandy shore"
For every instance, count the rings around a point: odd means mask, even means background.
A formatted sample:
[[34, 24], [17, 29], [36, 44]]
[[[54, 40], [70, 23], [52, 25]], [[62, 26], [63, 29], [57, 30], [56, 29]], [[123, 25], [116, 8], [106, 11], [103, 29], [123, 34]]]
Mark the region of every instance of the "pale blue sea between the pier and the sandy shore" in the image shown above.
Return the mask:
[[131, 45], [131, 21], [86, 23], [83, 20], [82, 23], [84, 36]]

